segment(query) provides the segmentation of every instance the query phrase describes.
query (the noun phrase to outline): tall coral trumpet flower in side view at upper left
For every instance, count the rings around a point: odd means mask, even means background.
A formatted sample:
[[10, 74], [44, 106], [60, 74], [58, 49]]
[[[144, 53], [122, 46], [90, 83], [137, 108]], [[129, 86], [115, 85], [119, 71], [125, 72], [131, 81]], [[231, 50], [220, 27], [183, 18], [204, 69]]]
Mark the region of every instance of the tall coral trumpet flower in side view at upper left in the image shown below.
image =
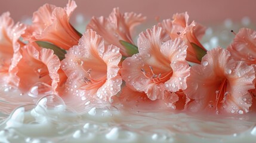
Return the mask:
[[51, 42], [63, 49], [77, 45], [80, 36], [69, 23], [75, 8], [75, 1], [69, 1], [65, 8], [43, 5], [33, 14], [33, 24], [27, 28], [23, 38], [30, 42]]

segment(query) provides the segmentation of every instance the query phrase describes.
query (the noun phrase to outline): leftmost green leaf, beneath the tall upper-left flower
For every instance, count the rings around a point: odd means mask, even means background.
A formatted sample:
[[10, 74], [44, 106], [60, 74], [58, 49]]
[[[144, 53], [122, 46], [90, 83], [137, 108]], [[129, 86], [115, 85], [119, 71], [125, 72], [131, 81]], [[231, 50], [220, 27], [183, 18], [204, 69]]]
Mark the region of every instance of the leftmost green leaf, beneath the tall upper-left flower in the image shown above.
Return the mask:
[[65, 54], [67, 53], [66, 50], [61, 49], [60, 47], [55, 46], [52, 43], [48, 43], [44, 41], [36, 41], [36, 43], [43, 48], [53, 49], [54, 54], [58, 56], [60, 61], [65, 58]]

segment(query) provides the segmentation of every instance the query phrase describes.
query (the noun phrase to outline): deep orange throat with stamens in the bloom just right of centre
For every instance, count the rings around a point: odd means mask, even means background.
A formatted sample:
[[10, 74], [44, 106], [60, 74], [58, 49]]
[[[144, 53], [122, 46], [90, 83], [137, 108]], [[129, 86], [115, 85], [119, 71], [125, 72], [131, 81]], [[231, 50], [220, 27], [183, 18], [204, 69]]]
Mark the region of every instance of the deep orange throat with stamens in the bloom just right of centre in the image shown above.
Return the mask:
[[167, 80], [169, 80], [169, 77], [172, 76], [173, 71], [168, 71], [165, 73], [159, 73], [159, 74], [155, 74], [153, 71], [152, 66], [149, 66], [149, 69], [151, 71], [151, 73], [146, 73], [146, 71], [144, 69], [141, 69], [141, 72], [144, 74], [145, 77], [147, 77], [147, 79], [152, 80], [154, 83], [164, 83]]

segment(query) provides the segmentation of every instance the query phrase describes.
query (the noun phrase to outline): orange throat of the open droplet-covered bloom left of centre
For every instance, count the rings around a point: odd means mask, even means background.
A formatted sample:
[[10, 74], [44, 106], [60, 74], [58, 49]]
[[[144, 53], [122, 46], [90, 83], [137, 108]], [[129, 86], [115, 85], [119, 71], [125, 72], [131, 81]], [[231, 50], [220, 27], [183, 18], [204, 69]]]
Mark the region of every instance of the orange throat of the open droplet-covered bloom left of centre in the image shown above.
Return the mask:
[[102, 86], [106, 82], [106, 79], [107, 79], [106, 74], [104, 76], [101, 76], [98, 79], [94, 79], [91, 77], [91, 69], [87, 71], [87, 74], [88, 74], [88, 77], [84, 77], [83, 79], [86, 85], [84, 85], [82, 89], [85, 89], [88, 91], [94, 88], [100, 88], [100, 86]]

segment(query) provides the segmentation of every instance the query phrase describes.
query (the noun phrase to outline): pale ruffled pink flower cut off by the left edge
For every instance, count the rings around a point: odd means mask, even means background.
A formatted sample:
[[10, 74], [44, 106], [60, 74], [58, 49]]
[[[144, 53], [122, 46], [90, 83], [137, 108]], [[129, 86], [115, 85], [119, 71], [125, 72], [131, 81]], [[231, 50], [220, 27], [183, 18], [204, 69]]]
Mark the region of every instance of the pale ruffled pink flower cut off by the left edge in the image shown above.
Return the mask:
[[21, 59], [18, 39], [25, 30], [23, 24], [14, 25], [10, 13], [0, 16], [0, 83], [1, 85], [17, 86], [17, 63]]

